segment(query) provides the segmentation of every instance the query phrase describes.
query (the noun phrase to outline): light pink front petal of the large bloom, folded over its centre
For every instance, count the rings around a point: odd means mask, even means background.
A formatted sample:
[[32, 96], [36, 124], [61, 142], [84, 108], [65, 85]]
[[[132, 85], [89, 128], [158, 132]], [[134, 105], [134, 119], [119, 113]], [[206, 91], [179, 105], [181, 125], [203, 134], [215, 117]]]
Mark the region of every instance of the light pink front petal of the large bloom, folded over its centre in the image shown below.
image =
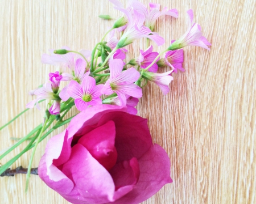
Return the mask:
[[62, 171], [75, 183], [80, 200], [92, 203], [111, 201], [109, 197], [113, 197], [115, 190], [113, 179], [84, 146], [77, 144], [72, 147], [71, 157]]

